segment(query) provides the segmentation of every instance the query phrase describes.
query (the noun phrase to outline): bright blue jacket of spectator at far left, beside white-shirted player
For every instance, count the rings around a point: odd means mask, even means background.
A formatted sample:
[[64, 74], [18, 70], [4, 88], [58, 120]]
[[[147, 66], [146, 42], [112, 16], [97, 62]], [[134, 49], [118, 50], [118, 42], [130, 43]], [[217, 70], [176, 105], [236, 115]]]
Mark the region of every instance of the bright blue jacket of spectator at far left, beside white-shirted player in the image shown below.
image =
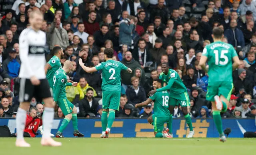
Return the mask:
[[20, 71], [20, 60], [17, 59], [12, 59], [9, 57], [8, 59], [4, 60], [3, 62], [3, 69], [11, 76], [12, 78], [17, 78], [19, 75]]

